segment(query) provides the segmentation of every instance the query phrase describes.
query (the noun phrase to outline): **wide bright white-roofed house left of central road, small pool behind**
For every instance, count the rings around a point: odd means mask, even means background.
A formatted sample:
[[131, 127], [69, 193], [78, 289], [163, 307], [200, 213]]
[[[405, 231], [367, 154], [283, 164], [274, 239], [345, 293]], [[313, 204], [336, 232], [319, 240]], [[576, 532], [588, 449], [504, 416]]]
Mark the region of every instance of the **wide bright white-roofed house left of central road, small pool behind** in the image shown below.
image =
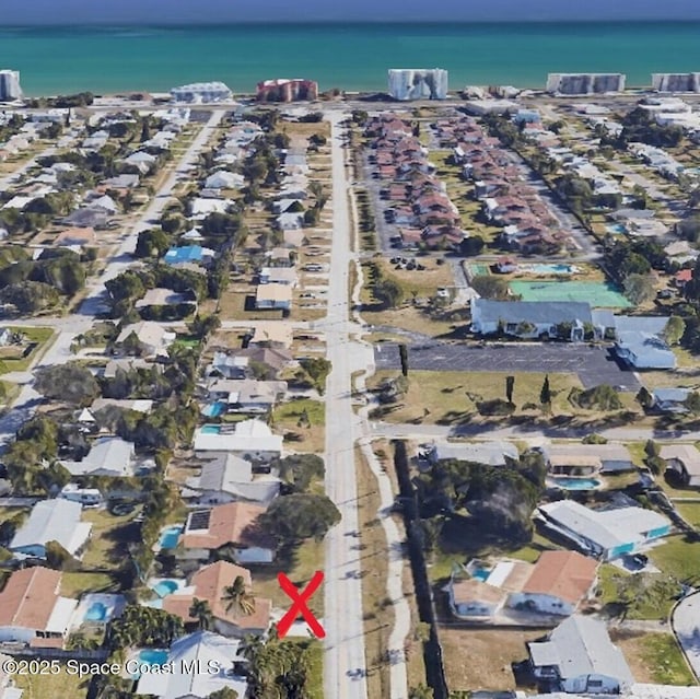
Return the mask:
[[252, 462], [269, 463], [282, 453], [282, 438], [261, 420], [243, 420], [233, 424], [203, 426], [195, 432], [196, 452], [232, 452]]

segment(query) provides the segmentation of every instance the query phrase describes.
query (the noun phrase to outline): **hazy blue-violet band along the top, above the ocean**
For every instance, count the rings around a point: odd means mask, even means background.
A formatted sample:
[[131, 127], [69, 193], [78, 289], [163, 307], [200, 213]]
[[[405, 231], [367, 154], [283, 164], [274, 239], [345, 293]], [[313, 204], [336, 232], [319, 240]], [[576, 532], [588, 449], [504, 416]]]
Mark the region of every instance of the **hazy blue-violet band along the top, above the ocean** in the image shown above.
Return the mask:
[[178, 22], [700, 20], [698, 0], [0, 0], [3, 25]]

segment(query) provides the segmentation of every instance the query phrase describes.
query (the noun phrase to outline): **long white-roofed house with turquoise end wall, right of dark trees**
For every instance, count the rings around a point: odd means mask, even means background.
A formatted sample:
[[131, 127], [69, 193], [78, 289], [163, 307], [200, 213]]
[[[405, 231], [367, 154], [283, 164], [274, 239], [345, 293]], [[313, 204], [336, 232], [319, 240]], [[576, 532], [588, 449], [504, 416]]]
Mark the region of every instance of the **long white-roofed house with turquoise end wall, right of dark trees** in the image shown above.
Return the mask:
[[537, 519], [584, 554], [603, 560], [634, 554], [670, 533], [670, 522], [653, 510], [591, 510], [574, 500], [540, 505]]

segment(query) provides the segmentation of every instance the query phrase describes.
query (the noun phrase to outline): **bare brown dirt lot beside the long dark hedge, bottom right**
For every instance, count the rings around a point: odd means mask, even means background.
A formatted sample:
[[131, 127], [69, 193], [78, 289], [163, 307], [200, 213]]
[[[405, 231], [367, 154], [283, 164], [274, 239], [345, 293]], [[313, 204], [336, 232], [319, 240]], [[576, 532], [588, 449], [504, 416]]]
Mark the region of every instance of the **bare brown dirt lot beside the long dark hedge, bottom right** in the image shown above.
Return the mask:
[[528, 641], [545, 631], [440, 629], [447, 687], [451, 691], [514, 689], [511, 663], [527, 657]]

